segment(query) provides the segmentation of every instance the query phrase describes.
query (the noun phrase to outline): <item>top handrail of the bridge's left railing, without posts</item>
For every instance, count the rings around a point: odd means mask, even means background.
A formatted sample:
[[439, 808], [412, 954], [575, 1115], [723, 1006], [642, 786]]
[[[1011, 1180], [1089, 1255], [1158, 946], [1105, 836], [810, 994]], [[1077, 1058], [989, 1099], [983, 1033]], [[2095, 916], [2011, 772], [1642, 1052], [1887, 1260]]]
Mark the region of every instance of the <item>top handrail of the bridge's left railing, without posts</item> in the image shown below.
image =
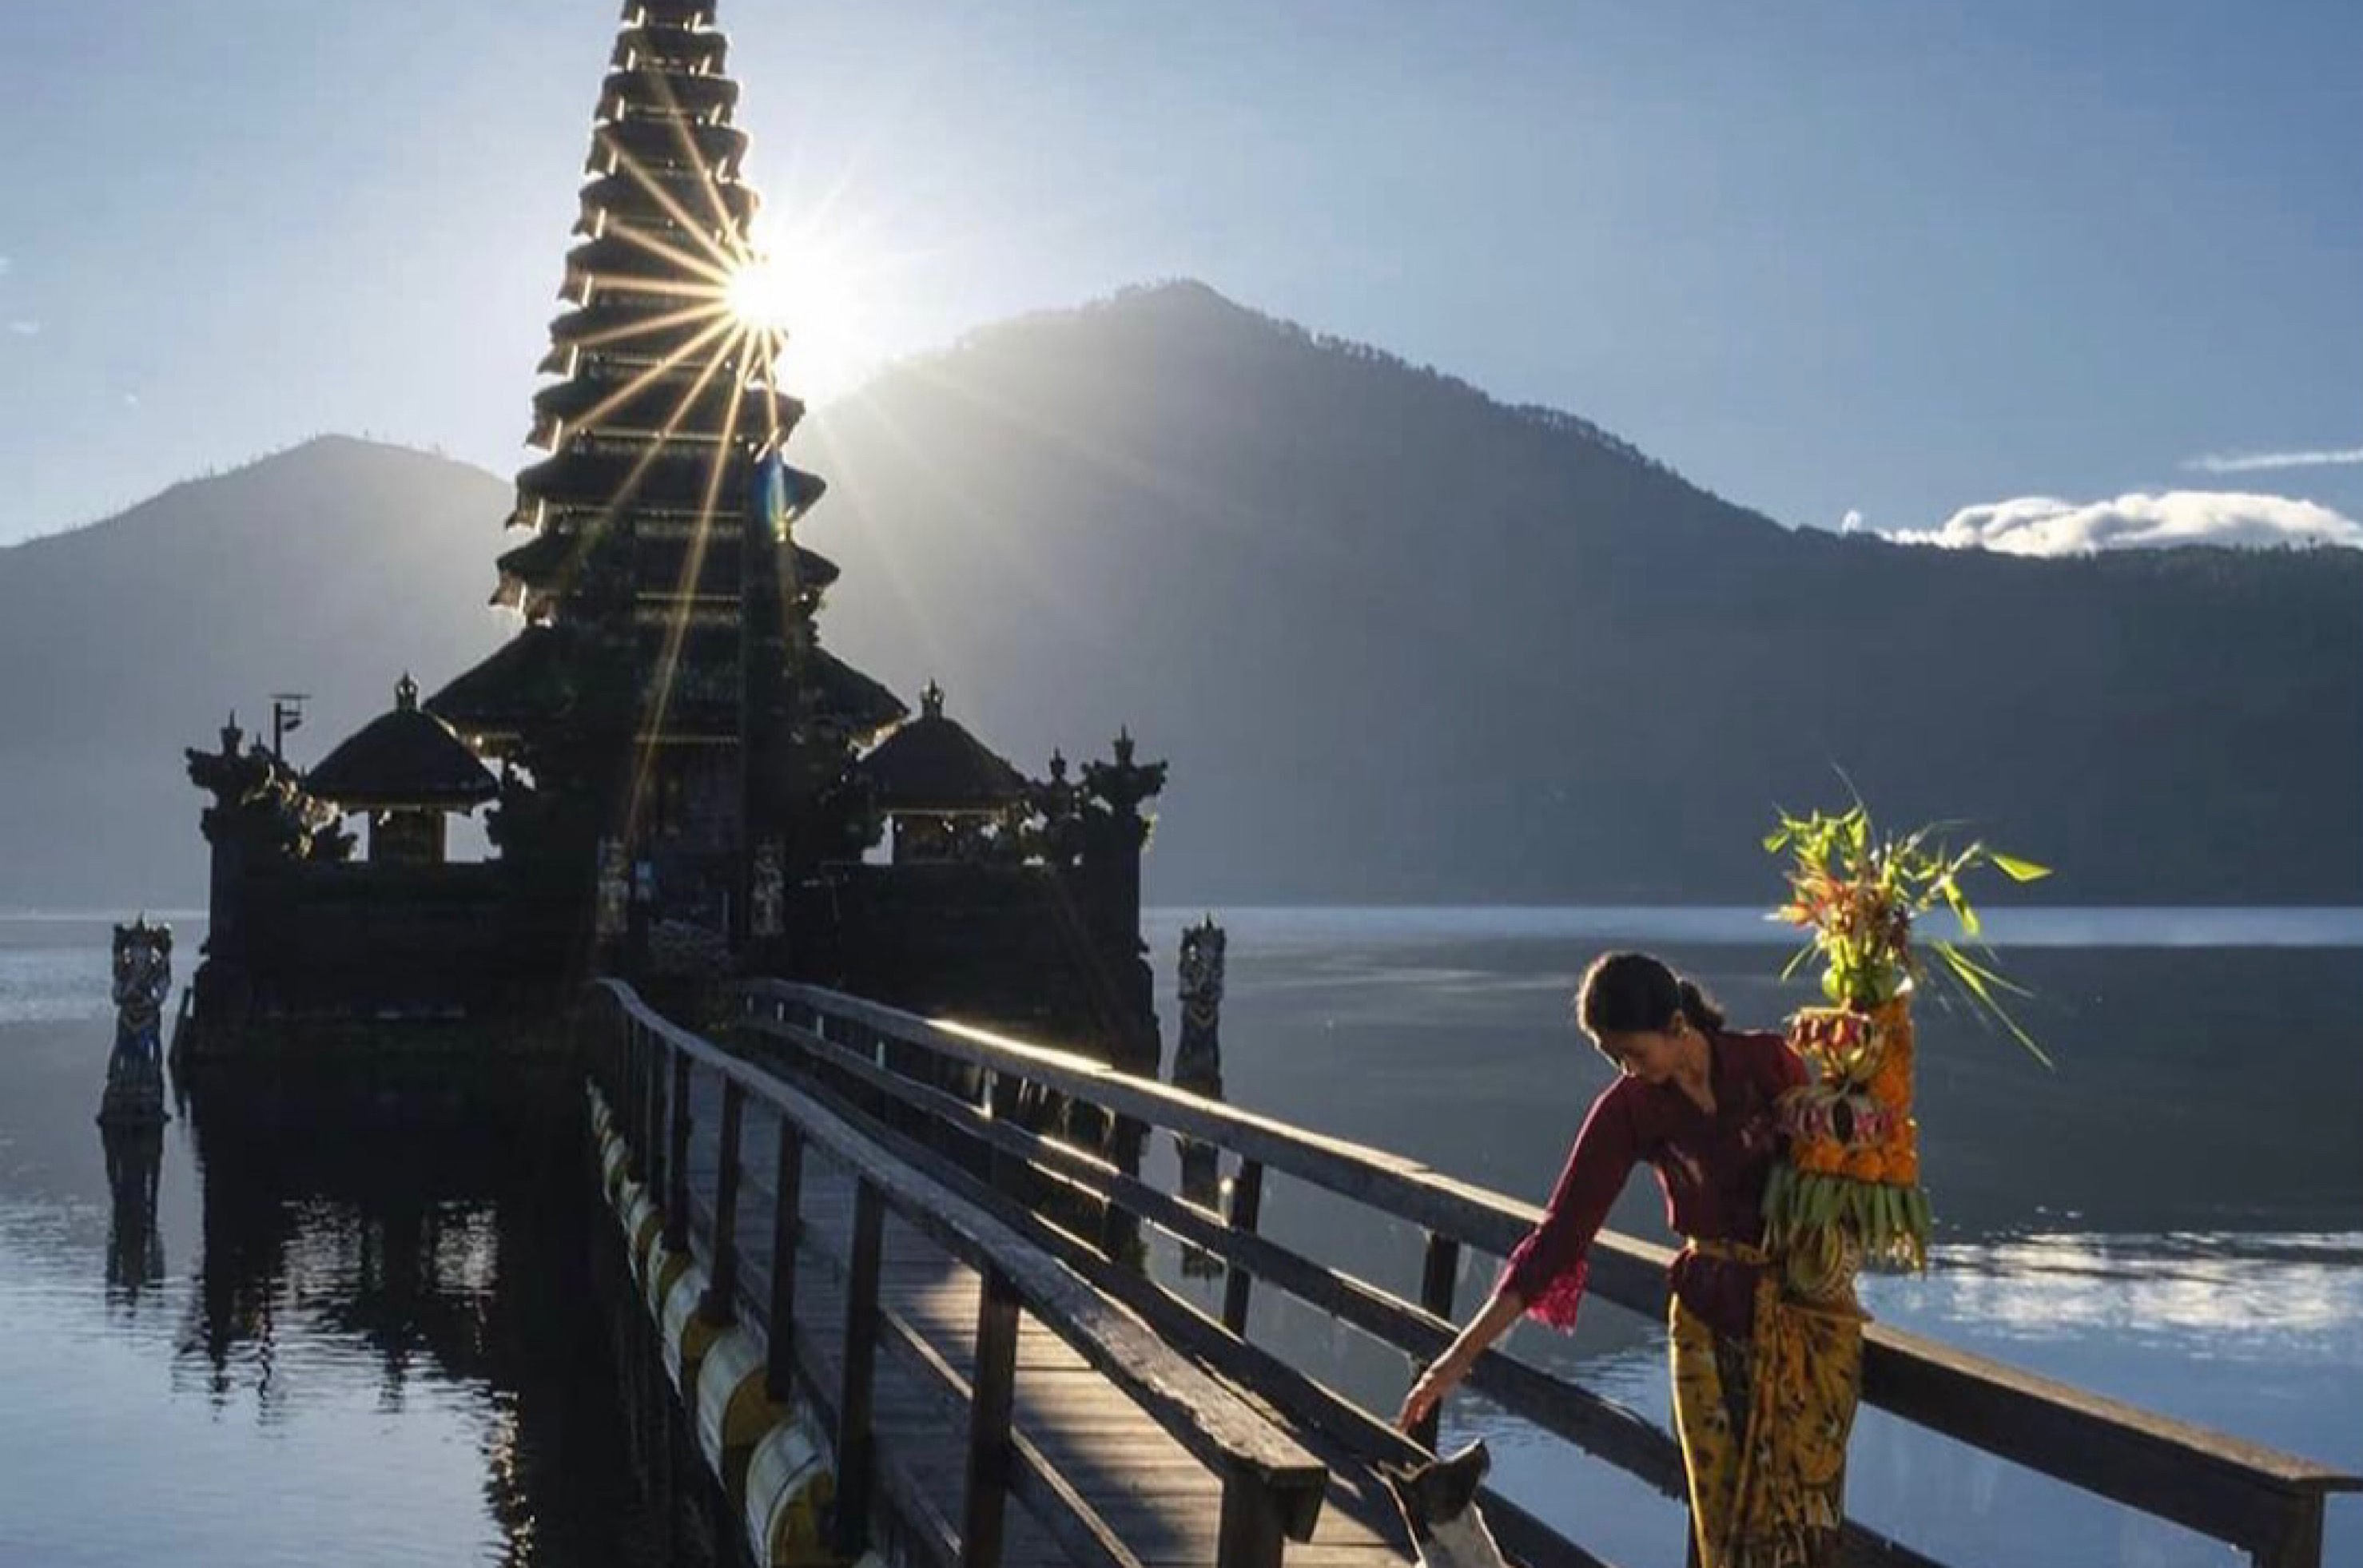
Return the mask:
[[931, 1176], [881, 1152], [811, 1096], [655, 1013], [631, 985], [598, 980], [598, 987], [621, 1006], [643, 1039], [777, 1110], [808, 1150], [822, 1150], [855, 1178], [858, 1193], [874, 1193], [905, 1223], [1009, 1289], [1184, 1450], [1215, 1469], [1226, 1495], [1236, 1488], [1262, 1497], [1271, 1521], [1290, 1540], [1311, 1537], [1328, 1466], [1219, 1379], [1174, 1353], [1070, 1268]]

